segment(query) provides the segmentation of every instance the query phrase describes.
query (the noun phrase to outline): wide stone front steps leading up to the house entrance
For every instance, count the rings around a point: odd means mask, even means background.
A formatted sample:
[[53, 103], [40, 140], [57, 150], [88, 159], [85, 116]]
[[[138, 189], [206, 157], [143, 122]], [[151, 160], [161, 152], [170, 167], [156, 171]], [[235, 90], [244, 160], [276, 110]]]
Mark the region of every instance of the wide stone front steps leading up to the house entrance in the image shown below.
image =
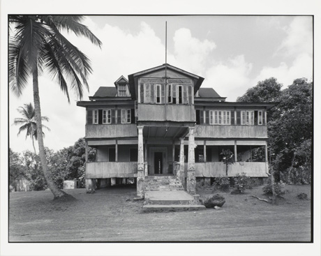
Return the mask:
[[199, 195], [189, 195], [177, 176], [145, 177], [144, 211], [195, 211], [205, 209]]

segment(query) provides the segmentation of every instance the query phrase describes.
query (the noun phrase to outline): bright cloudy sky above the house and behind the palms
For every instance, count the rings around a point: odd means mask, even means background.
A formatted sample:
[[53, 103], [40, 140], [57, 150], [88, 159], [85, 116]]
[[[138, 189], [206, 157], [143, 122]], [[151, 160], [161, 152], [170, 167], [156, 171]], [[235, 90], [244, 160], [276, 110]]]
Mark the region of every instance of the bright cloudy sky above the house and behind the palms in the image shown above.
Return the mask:
[[[86, 38], [66, 33], [70, 42], [91, 59], [93, 73], [89, 100], [99, 86], [114, 86], [121, 76], [167, 63], [204, 77], [202, 88], [214, 88], [226, 101], [235, 101], [257, 82], [276, 77], [283, 89], [293, 80], [313, 78], [313, 19], [311, 16], [87, 16], [83, 24], [102, 41], [101, 48]], [[85, 109], [77, 107], [70, 89], [70, 104], [58, 84], [45, 73], [39, 77], [45, 146], [55, 151], [84, 137]], [[31, 150], [25, 133], [17, 136], [17, 108], [33, 103], [32, 83], [20, 98], [9, 92], [10, 148]], [[36, 144], [38, 151], [38, 144]]]

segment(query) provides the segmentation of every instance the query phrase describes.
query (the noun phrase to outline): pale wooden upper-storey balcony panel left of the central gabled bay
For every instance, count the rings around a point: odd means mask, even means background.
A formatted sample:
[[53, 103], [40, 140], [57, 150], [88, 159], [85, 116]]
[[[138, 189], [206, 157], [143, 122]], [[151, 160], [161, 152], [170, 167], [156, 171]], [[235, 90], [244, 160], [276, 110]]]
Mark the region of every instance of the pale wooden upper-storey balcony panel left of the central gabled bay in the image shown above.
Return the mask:
[[86, 138], [137, 137], [137, 126], [130, 124], [87, 124]]

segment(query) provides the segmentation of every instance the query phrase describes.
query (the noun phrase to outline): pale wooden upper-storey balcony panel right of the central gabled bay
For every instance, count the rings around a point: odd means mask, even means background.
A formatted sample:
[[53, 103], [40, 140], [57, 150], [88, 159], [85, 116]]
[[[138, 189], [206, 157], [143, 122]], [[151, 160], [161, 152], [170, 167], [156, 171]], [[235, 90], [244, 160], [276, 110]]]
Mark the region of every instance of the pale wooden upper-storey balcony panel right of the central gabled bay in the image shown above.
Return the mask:
[[267, 139], [267, 126], [197, 126], [195, 137]]

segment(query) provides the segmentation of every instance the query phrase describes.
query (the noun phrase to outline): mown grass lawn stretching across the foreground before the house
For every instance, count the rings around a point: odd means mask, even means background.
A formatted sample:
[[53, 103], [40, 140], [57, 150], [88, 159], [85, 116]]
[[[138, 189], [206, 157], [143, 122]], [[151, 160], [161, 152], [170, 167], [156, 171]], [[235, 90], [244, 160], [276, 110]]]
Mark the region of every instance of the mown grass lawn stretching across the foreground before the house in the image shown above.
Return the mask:
[[285, 189], [290, 193], [272, 205], [251, 197], [266, 198], [262, 186], [242, 195], [202, 188], [203, 198], [223, 195], [224, 206], [157, 213], [133, 201], [134, 186], [66, 190], [75, 202], [56, 202], [50, 191], [10, 193], [9, 241], [311, 241], [311, 187]]

